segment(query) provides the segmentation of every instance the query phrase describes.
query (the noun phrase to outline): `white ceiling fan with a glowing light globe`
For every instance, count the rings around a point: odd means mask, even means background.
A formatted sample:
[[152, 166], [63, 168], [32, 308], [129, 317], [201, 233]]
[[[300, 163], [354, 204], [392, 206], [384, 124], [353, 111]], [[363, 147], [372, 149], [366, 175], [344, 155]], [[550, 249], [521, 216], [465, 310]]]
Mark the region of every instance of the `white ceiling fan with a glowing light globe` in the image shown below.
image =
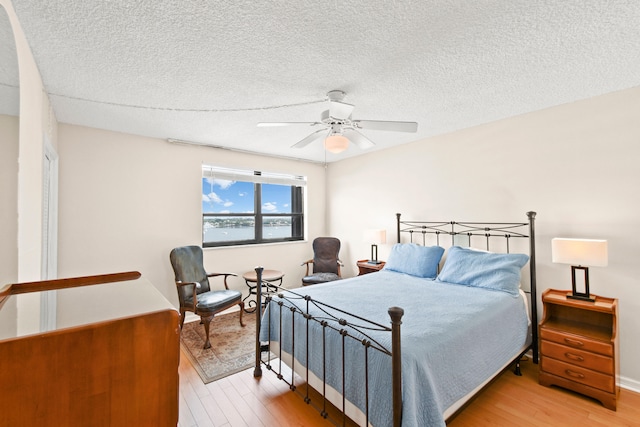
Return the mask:
[[293, 144], [292, 147], [302, 148], [320, 138], [325, 138], [325, 148], [332, 153], [340, 153], [346, 150], [350, 141], [361, 149], [373, 147], [375, 144], [359, 132], [361, 129], [393, 132], [416, 132], [418, 130], [418, 123], [416, 122], [353, 120], [351, 113], [354, 105], [342, 102], [345, 95], [341, 90], [332, 90], [327, 93], [329, 109], [322, 112], [319, 122], [267, 122], [258, 123], [258, 126], [320, 126], [321, 129]]

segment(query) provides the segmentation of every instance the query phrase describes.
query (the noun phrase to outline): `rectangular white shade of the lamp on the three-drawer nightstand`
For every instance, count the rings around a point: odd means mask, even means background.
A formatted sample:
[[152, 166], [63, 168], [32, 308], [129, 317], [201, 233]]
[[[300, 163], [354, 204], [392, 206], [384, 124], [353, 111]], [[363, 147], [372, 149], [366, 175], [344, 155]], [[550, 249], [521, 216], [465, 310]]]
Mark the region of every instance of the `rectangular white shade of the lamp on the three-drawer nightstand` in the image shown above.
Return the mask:
[[606, 267], [609, 262], [607, 241], [556, 237], [551, 240], [551, 261], [584, 267]]

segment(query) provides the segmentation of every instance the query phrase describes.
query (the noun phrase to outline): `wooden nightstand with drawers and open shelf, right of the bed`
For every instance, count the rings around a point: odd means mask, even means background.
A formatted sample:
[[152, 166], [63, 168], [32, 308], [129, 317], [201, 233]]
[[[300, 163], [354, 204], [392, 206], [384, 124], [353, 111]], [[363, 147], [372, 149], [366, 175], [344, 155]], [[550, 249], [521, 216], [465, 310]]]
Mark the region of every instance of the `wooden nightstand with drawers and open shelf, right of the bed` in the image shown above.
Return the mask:
[[618, 300], [595, 296], [595, 302], [579, 301], [567, 299], [568, 293], [547, 289], [542, 294], [538, 380], [593, 397], [615, 411]]

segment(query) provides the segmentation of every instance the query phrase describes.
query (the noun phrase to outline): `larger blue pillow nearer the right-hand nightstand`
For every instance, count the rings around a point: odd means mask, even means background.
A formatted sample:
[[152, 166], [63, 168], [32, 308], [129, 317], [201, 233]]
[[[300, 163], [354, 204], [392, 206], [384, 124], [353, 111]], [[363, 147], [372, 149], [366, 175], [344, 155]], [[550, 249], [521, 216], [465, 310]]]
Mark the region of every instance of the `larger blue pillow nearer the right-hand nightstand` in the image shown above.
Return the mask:
[[497, 254], [452, 246], [437, 281], [494, 289], [518, 295], [525, 254]]

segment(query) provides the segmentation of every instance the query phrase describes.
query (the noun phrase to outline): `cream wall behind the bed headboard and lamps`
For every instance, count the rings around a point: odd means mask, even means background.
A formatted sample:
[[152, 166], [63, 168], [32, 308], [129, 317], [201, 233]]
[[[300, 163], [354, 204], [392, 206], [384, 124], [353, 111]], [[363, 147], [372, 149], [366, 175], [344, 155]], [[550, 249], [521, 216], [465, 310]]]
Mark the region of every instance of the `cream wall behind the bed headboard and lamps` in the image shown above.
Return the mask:
[[[540, 292], [571, 287], [551, 263], [553, 237], [609, 241], [609, 266], [591, 268], [591, 291], [619, 299], [623, 384], [640, 390], [640, 88], [562, 105], [333, 163], [329, 232], [366, 258], [366, 228], [395, 213], [414, 220], [526, 221], [538, 212]], [[429, 126], [425, 117], [420, 126]], [[345, 254], [346, 255], [346, 254]]]

